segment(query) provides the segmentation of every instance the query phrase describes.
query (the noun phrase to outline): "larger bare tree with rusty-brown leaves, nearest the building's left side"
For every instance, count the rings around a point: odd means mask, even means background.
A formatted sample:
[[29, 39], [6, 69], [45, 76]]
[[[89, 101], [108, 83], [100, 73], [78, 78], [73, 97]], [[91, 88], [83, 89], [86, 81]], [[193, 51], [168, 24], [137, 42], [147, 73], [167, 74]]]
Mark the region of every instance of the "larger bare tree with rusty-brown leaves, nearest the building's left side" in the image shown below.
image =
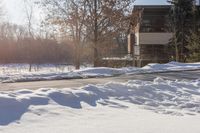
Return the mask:
[[[92, 36], [94, 66], [100, 60], [100, 45], [108, 39], [116, 37], [119, 32], [128, 30], [129, 15], [134, 0], [86, 0], [86, 27]], [[109, 47], [107, 45], [107, 47]]]

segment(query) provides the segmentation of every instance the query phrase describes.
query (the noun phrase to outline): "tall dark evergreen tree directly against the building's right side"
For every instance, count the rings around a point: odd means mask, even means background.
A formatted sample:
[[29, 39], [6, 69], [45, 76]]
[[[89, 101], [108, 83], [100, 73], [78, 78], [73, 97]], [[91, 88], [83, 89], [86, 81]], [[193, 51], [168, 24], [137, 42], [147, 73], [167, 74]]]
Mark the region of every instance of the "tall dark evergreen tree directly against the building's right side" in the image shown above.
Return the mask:
[[187, 36], [193, 28], [194, 0], [171, 0], [170, 22], [173, 31], [171, 43], [175, 47], [176, 61], [184, 62], [188, 54]]

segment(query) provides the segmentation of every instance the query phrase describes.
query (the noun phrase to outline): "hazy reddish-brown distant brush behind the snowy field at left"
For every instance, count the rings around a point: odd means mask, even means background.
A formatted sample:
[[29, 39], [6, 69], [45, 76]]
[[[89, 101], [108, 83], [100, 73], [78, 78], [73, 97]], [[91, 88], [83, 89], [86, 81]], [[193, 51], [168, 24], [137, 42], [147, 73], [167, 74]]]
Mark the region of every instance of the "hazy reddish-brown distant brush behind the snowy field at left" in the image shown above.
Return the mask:
[[68, 41], [52, 36], [30, 37], [26, 27], [0, 24], [0, 63], [72, 63], [73, 49]]

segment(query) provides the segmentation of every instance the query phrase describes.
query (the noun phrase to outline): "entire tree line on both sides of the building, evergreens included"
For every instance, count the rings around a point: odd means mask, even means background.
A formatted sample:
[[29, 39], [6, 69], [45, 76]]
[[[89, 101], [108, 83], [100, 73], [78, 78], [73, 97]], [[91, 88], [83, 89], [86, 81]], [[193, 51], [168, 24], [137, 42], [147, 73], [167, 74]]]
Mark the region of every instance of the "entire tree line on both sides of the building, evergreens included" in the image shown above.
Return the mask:
[[[0, 24], [0, 63], [74, 63], [98, 66], [102, 57], [127, 53], [135, 0], [24, 0], [27, 25]], [[194, 0], [171, 0], [170, 46], [174, 60], [200, 60], [199, 8]], [[33, 30], [33, 6], [44, 20]], [[55, 27], [54, 29], [51, 29]], [[56, 30], [55, 30], [56, 29]]]

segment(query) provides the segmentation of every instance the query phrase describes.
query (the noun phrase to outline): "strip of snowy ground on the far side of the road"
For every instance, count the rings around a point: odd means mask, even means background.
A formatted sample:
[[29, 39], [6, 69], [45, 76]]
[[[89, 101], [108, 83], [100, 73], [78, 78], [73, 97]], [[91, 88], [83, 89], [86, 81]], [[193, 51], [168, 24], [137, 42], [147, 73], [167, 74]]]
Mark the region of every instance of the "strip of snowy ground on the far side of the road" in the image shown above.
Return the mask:
[[36, 81], [36, 80], [57, 80], [70, 78], [88, 78], [115, 76], [120, 74], [138, 74], [180, 70], [200, 69], [200, 63], [177, 63], [170, 62], [167, 64], [149, 64], [143, 68], [82, 68], [74, 70], [73, 66], [54, 66], [41, 65], [34, 67], [32, 72], [28, 71], [28, 65], [0, 65], [0, 82], [19, 82], [19, 81]]

